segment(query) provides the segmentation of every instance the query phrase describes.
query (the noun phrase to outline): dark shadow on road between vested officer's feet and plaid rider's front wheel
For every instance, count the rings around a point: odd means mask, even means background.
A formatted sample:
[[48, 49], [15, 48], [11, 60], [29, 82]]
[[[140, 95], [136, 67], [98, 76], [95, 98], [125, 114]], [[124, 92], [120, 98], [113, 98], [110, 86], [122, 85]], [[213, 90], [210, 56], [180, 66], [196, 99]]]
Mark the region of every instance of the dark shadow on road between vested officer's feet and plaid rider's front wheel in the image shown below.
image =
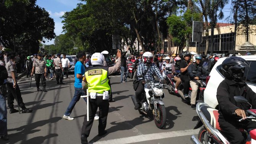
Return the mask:
[[136, 125], [141, 125], [143, 123], [148, 123], [150, 121], [152, 121], [151, 119], [146, 118], [147, 120], [145, 120], [145, 117], [143, 115], [139, 116], [138, 118], [134, 118], [133, 120], [130, 121], [122, 121], [117, 123], [117, 121], [113, 121], [110, 124], [114, 125], [107, 130], [107, 134], [105, 134], [104, 136], [95, 136], [93, 139], [91, 139], [90, 142], [96, 142], [99, 141], [102, 137], [107, 136], [109, 133], [113, 133], [113, 132], [117, 132], [117, 131], [123, 131], [123, 130], [128, 130], [128, 129], [132, 129], [134, 128]]

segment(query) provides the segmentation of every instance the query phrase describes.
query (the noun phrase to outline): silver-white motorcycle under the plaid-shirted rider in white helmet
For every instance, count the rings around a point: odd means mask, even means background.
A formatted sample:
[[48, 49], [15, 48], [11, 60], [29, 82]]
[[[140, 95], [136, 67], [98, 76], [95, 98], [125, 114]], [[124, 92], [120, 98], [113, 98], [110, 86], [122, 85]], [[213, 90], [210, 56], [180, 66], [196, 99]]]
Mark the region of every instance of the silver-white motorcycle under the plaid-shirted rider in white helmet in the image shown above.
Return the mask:
[[[153, 115], [155, 124], [157, 128], [164, 128], [166, 121], [166, 110], [164, 106], [164, 102], [162, 99], [164, 98], [163, 86], [164, 84], [146, 82], [145, 87], [148, 87], [149, 90], [149, 103], [147, 102], [146, 92], [141, 95], [141, 107], [139, 108], [140, 114]], [[133, 95], [131, 97], [133, 100], [134, 106], [137, 105], [136, 97]]]

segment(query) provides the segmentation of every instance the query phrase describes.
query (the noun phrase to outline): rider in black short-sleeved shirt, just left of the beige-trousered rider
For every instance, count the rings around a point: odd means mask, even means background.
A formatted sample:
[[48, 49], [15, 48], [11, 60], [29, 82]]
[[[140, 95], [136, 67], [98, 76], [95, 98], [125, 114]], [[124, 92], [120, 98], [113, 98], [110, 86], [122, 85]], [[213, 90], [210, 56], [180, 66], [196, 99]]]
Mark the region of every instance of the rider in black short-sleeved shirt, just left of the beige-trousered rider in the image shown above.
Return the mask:
[[188, 66], [192, 64], [192, 61], [190, 61], [191, 54], [189, 52], [184, 54], [184, 59], [180, 62], [180, 72], [181, 76], [180, 79], [183, 82], [184, 85], [184, 97], [188, 97], [188, 92], [190, 89], [190, 79], [188, 77]]

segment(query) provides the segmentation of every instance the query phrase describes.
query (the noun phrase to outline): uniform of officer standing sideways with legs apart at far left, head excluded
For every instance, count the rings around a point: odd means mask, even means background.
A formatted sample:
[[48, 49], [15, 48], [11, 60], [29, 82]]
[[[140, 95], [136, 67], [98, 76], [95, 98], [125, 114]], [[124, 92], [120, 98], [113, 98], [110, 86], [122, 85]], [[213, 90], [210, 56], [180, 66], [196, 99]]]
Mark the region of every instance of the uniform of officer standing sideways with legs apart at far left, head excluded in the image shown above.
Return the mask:
[[14, 103], [15, 97], [17, 99], [17, 102], [19, 103], [19, 107], [21, 107], [22, 109], [25, 109], [26, 107], [21, 98], [21, 92], [20, 92], [18, 84], [16, 83], [16, 88], [13, 88], [14, 81], [11, 76], [11, 72], [14, 72], [15, 77], [17, 78], [17, 70], [16, 70], [15, 63], [13, 63], [13, 61], [9, 60], [8, 63], [6, 64], [5, 68], [8, 72], [8, 78], [6, 79], [7, 103], [10, 108], [10, 113], [13, 113], [13, 112], [17, 112], [17, 110], [15, 110], [13, 108], [13, 106], [14, 106], [13, 103]]

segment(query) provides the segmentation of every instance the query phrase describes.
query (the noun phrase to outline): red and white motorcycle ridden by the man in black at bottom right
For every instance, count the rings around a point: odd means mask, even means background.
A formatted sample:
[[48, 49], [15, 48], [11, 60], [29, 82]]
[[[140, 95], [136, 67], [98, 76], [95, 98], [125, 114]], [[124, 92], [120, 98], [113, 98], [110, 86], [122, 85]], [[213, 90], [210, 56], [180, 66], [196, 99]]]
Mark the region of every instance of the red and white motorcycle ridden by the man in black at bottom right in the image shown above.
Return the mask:
[[[242, 96], [235, 96], [235, 101], [238, 103], [248, 103], [248, 100]], [[248, 103], [249, 104], [249, 103]], [[250, 104], [251, 105], [251, 104]], [[198, 138], [196, 136], [191, 136], [191, 141], [194, 144], [230, 144], [227, 138], [222, 134], [219, 126], [219, 113], [218, 110], [209, 107], [206, 103], [198, 103], [196, 105], [196, 112], [198, 116], [194, 116], [192, 121], [198, 121], [194, 129], [204, 126], [200, 129], [198, 133]], [[256, 120], [256, 109], [246, 110], [247, 120]], [[233, 113], [233, 115], [236, 115]], [[243, 118], [238, 120], [243, 121]], [[240, 129], [245, 139], [248, 137], [247, 131]], [[256, 129], [250, 131], [251, 144], [256, 144]], [[250, 143], [250, 142], [249, 142]], [[246, 143], [247, 144], [247, 143]]]

